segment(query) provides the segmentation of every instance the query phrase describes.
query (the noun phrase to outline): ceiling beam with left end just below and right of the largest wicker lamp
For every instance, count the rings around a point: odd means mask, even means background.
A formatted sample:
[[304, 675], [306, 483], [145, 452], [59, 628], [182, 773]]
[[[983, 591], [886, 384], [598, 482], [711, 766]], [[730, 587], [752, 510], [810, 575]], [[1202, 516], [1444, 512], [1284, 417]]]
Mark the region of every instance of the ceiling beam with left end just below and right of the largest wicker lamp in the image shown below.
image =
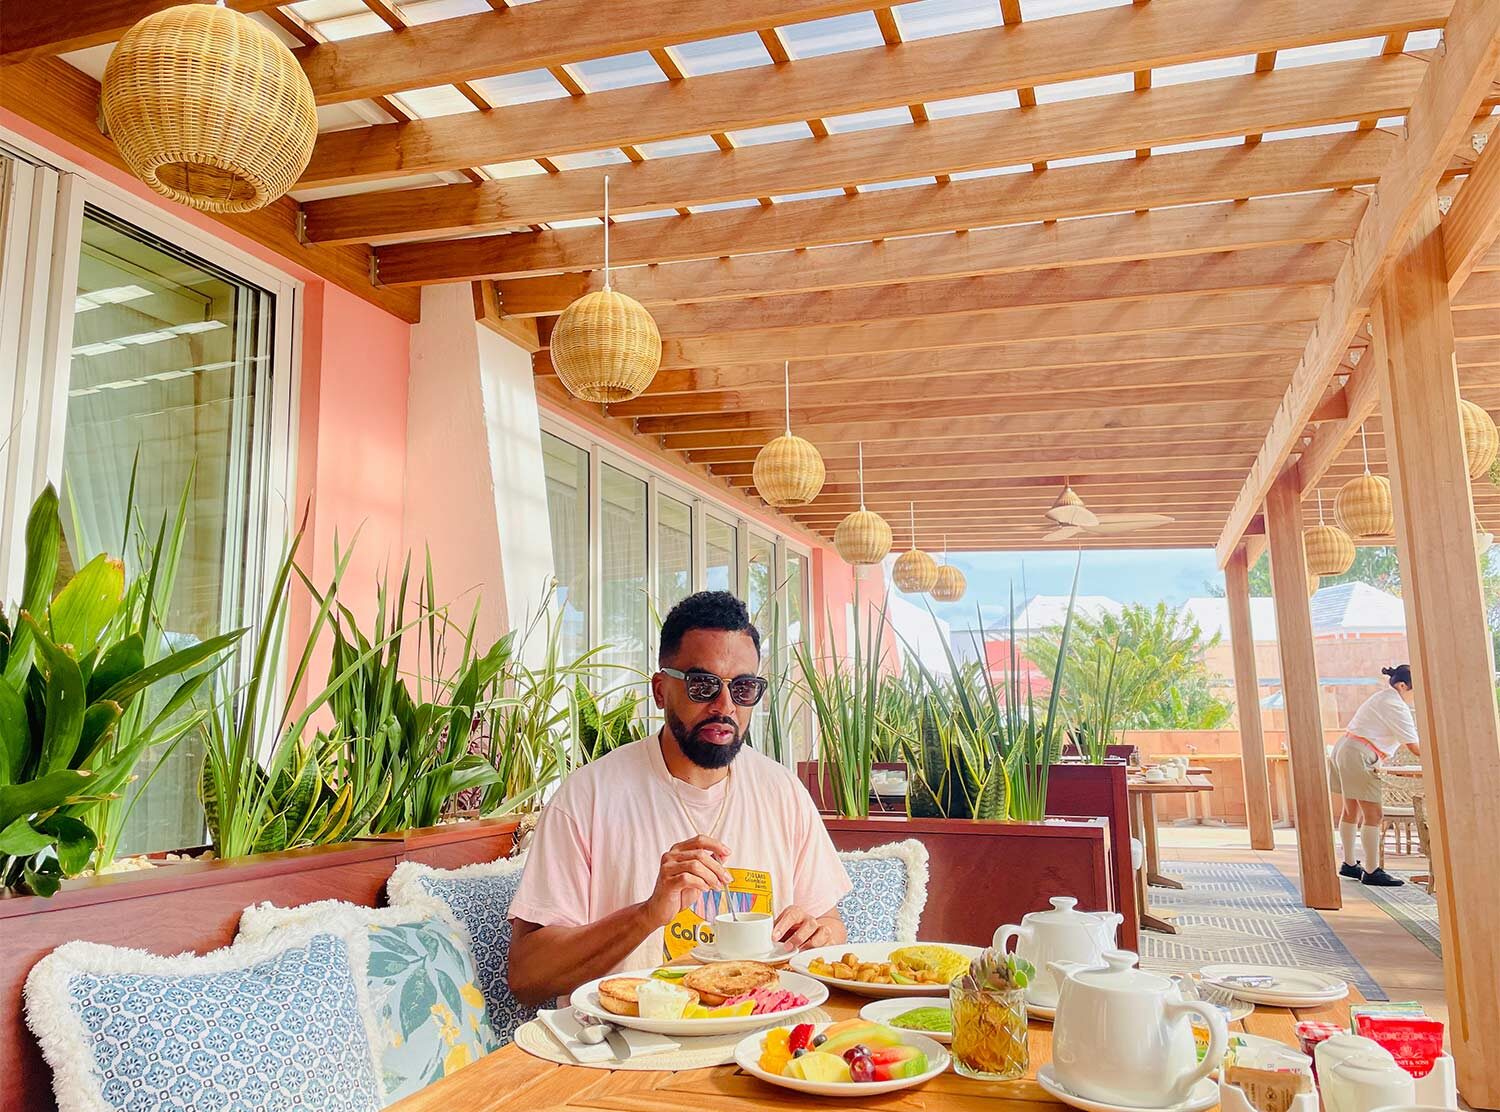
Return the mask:
[[[795, 63], [801, 65], [801, 63]], [[920, 128], [874, 128], [794, 143], [573, 170], [556, 177], [512, 177], [478, 186], [387, 191], [308, 206], [314, 242], [368, 243], [502, 231], [598, 213], [609, 176], [610, 212], [652, 212], [770, 194], [784, 195], [956, 174], [1030, 161], [1107, 155], [1216, 140], [1254, 131], [1311, 128], [1362, 116], [1400, 116], [1412, 107], [1426, 63], [1407, 56], [1356, 59], [932, 120]], [[438, 173], [494, 158], [477, 146], [432, 149], [402, 173]], [[531, 156], [536, 156], [534, 152]], [[303, 176], [302, 188], [388, 177], [363, 164], [358, 176]]]

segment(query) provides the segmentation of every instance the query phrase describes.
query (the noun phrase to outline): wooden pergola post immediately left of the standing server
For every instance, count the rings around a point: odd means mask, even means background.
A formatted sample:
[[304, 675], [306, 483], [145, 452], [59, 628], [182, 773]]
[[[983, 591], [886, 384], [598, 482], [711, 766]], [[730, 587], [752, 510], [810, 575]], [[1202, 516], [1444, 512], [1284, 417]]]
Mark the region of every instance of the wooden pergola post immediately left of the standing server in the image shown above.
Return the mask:
[[1292, 795], [1298, 812], [1298, 869], [1302, 902], [1336, 911], [1344, 905], [1334, 861], [1332, 804], [1328, 756], [1318, 710], [1317, 660], [1312, 656], [1312, 611], [1308, 608], [1308, 567], [1302, 551], [1302, 491], [1296, 471], [1276, 479], [1266, 495], [1270, 534], [1270, 591], [1276, 599], [1276, 648], [1281, 653], [1281, 696], [1287, 705], [1287, 749]]

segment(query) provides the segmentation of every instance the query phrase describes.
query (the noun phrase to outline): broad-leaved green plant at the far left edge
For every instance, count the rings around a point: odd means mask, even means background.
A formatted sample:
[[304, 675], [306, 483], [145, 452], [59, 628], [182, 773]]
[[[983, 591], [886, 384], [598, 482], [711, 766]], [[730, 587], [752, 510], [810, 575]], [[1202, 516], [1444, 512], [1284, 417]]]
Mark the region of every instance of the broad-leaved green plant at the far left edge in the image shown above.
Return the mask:
[[[144, 585], [128, 588], [124, 564], [99, 555], [54, 594], [60, 552], [48, 486], [27, 518], [20, 605], [0, 614], [0, 875], [4, 887], [40, 896], [90, 864], [99, 845], [90, 816], [118, 797], [141, 753], [170, 737], [172, 716], [207, 678], [188, 674], [243, 633], [147, 662], [156, 561]], [[148, 689], [174, 683], [160, 710], [134, 717]], [[130, 732], [120, 738], [128, 716]]]

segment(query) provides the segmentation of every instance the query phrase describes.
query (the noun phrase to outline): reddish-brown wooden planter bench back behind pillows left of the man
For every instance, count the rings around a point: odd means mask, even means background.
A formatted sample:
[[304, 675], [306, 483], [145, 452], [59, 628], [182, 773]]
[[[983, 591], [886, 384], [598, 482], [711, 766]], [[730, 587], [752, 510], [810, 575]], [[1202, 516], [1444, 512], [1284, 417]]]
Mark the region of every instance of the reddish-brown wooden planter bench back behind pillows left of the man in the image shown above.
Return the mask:
[[21, 1014], [26, 975], [63, 942], [84, 939], [159, 954], [207, 953], [234, 941], [240, 911], [342, 899], [375, 906], [400, 861], [458, 867], [510, 852], [518, 819], [478, 819], [342, 845], [180, 861], [64, 881], [51, 899], [0, 894], [0, 1109], [50, 1109], [52, 1073]]

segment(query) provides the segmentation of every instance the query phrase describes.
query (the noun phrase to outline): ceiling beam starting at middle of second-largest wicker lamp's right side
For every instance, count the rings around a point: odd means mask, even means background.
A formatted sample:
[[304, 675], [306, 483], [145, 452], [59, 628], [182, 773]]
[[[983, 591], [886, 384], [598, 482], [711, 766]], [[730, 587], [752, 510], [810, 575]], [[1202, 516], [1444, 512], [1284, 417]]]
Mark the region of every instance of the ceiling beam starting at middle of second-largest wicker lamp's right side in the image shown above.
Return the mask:
[[663, 335], [662, 366], [735, 366], [1072, 336], [1191, 332], [1263, 321], [1311, 321], [1324, 299], [1322, 288], [1245, 290], [1184, 294], [1156, 302], [1084, 302], [1048, 309], [993, 309], [951, 318], [867, 321], [684, 339]]

